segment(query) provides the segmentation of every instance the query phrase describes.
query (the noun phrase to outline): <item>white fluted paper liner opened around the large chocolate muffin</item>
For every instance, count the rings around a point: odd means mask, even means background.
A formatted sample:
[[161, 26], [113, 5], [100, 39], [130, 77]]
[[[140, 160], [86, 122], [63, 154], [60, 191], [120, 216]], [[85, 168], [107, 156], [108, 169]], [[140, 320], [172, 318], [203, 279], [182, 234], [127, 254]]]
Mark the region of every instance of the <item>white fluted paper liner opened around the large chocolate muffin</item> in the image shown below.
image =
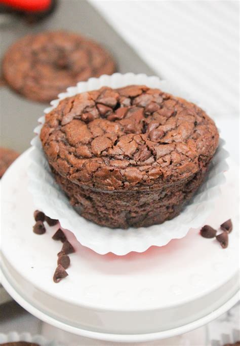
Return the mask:
[[[52, 106], [48, 107], [45, 113], [54, 109], [61, 99], [77, 93], [96, 90], [102, 86], [119, 88], [133, 84], [159, 88], [198, 104], [189, 94], [167, 81], [159, 80], [156, 76], [114, 73], [111, 76], [102, 75], [100, 78], [91, 78], [87, 82], [79, 82], [76, 87], [68, 88], [66, 93], [59, 94], [58, 100], [51, 102]], [[210, 112], [208, 114], [211, 116]], [[183, 238], [190, 228], [202, 226], [211, 214], [214, 200], [220, 194], [219, 187], [225, 181], [224, 171], [228, 169], [226, 164], [228, 153], [223, 149], [222, 140], [212, 160], [207, 179], [179, 216], [163, 224], [149, 227], [111, 229], [79, 216], [55, 182], [39, 139], [44, 122], [45, 117], [41, 117], [39, 119], [41, 125], [34, 130], [37, 136], [31, 141], [33, 150], [30, 153], [31, 164], [28, 169], [29, 191], [33, 196], [36, 209], [44, 211], [51, 218], [58, 219], [61, 227], [74, 233], [82, 245], [99, 254], [112, 252], [116, 255], [125, 255], [131, 251], [144, 252], [150, 246], [164, 246], [172, 239]]]

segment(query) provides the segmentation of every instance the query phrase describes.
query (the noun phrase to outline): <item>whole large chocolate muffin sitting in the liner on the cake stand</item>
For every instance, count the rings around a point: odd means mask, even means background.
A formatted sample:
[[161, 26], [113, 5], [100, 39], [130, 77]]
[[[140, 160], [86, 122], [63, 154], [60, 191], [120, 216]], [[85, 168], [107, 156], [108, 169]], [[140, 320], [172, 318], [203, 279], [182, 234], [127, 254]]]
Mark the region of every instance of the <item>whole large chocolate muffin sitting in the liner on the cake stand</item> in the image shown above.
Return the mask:
[[202, 183], [218, 146], [193, 103], [146, 86], [85, 92], [46, 115], [43, 148], [71, 205], [103, 226], [162, 223]]

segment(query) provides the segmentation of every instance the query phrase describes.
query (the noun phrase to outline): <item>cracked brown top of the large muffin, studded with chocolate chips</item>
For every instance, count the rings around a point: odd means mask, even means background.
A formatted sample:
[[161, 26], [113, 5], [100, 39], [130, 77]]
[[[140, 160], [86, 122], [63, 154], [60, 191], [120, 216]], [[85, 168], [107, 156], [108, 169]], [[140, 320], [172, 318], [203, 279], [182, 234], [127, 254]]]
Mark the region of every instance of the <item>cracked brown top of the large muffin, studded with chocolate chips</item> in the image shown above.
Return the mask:
[[159, 89], [102, 87], [61, 100], [41, 131], [53, 169], [96, 189], [159, 188], [206, 166], [219, 135], [195, 104]]

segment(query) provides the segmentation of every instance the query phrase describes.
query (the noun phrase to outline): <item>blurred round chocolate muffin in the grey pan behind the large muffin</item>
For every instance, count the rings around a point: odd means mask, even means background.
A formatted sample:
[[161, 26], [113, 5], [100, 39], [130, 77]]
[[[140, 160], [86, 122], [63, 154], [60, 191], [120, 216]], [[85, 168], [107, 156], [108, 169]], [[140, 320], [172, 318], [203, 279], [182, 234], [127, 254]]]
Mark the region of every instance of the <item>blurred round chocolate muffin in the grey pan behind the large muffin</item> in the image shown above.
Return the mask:
[[100, 45], [63, 31], [24, 36], [9, 48], [3, 60], [7, 83], [25, 97], [41, 102], [57, 98], [77, 82], [114, 71], [112, 57]]

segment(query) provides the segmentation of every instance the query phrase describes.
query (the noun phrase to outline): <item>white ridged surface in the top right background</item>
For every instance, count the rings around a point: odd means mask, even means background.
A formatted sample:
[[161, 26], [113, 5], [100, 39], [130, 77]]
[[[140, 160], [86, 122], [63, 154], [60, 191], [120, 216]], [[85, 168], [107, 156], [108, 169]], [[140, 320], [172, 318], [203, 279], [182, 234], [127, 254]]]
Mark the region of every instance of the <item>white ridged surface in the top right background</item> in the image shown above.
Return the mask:
[[237, 1], [90, 2], [162, 78], [215, 114], [237, 115]]

